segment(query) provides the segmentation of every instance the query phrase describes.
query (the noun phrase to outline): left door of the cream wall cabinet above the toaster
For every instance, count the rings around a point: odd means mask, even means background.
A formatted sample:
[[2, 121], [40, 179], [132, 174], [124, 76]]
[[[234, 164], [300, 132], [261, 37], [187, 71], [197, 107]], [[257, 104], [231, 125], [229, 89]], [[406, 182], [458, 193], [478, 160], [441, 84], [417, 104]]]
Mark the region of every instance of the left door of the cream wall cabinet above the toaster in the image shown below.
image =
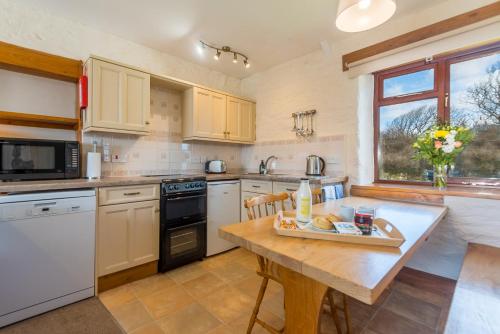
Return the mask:
[[226, 96], [206, 89], [194, 89], [194, 135], [224, 139]]

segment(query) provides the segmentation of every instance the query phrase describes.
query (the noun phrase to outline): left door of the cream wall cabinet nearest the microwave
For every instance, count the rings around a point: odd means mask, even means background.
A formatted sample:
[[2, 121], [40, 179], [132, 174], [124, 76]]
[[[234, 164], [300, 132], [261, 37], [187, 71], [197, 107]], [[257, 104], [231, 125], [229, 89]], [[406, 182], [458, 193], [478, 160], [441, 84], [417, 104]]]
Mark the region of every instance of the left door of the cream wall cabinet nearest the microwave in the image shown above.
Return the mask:
[[91, 126], [120, 129], [123, 103], [123, 67], [92, 60]]

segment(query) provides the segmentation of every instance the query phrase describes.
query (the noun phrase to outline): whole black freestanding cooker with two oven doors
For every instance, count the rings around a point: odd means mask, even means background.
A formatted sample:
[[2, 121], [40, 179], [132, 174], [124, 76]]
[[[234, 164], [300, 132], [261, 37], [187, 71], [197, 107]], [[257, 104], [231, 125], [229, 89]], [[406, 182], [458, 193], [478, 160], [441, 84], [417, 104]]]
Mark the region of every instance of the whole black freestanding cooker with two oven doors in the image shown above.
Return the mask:
[[160, 206], [158, 270], [165, 272], [203, 259], [207, 252], [205, 178], [163, 180]]

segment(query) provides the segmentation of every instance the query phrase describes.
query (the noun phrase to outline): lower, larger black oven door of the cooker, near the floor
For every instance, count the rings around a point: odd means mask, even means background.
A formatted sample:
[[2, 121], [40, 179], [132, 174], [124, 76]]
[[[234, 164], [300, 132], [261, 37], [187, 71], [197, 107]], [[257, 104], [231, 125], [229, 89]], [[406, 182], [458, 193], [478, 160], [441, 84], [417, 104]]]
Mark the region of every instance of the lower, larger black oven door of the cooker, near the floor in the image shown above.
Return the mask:
[[205, 257], [207, 252], [206, 220], [173, 228], [162, 224], [160, 234], [160, 261], [158, 265], [160, 272]]

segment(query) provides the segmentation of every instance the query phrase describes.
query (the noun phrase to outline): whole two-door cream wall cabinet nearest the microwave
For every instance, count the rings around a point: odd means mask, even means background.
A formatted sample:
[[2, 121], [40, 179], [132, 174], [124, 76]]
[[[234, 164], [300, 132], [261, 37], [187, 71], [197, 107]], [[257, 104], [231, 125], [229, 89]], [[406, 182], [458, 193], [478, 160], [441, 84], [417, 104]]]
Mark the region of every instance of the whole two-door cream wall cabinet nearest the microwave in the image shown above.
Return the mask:
[[89, 103], [84, 131], [146, 135], [150, 118], [150, 75], [111, 62], [89, 59]]

